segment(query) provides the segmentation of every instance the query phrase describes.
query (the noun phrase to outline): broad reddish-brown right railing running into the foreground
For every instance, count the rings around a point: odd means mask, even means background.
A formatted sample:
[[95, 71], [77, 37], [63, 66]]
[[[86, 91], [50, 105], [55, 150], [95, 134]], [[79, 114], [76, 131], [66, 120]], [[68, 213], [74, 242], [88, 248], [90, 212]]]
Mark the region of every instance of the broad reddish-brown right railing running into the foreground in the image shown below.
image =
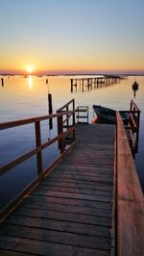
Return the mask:
[[124, 123], [119, 112], [116, 113], [116, 118], [116, 255], [141, 256], [144, 254], [144, 197], [132, 159]]

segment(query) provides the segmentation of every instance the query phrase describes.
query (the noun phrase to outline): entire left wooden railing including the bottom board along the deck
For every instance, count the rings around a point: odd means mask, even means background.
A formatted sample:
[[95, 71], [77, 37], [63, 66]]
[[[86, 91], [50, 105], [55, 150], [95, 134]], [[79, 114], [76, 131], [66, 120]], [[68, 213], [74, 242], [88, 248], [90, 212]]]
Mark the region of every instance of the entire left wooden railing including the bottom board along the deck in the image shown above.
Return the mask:
[[[74, 104], [74, 103], [73, 103]], [[5, 129], [10, 129], [13, 127], [17, 126], [22, 126], [22, 125], [27, 125], [30, 123], [33, 123], [35, 125], [35, 131], [36, 131], [36, 148], [33, 150], [25, 153], [24, 155], [14, 159], [11, 163], [8, 163], [5, 166], [0, 167], [0, 175], [3, 175], [10, 169], [12, 169], [15, 166], [18, 166], [19, 164], [25, 162], [32, 156], [36, 155], [36, 164], [37, 164], [37, 177], [36, 179], [18, 196], [16, 196], [10, 205], [8, 205], [0, 214], [0, 218], [3, 218], [4, 215], [12, 208], [12, 206], [20, 200], [24, 194], [26, 194], [29, 190], [31, 190], [36, 183], [44, 176], [47, 174], [48, 171], [50, 171], [54, 166], [57, 165], [57, 163], [60, 162], [61, 157], [68, 151], [70, 148], [74, 145], [74, 138], [73, 138], [73, 143], [69, 148], [64, 150], [64, 145], [61, 141], [64, 141], [64, 137], [67, 136], [68, 134], [74, 133], [75, 132], [75, 122], [73, 121], [72, 125], [67, 127], [66, 131], [63, 131], [63, 122], [62, 122], [62, 117], [63, 116], [70, 116], [70, 115], [75, 115], [74, 111], [68, 111], [68, 108], [66, 108], [67, 111], [59, 112], [54, 115], [43, 115], [43, 116], [37, 116], [33, 118], [27, 118], [27, 119], [21, 119], [21, 120], [16, 120], [16, 121], [11, 121], [11, 122], [5, 122], [5, 123], [0, 123], [0, 130], [5, 130]], [[53, 138], [50, 141], [46, 141], [44, 143], [41, 143], [41, 131], [40, 131], [40, 122], [44, 120], [49, 120], [50, 118], [57, 118], [58, 120], [58, 136]], [[42, 166], [42, 150], [47, 148], [49, 145], [52, 143], [60, 141], [60, 156], [50, 165], [47, 166], [46, 169], [43, 169]]]

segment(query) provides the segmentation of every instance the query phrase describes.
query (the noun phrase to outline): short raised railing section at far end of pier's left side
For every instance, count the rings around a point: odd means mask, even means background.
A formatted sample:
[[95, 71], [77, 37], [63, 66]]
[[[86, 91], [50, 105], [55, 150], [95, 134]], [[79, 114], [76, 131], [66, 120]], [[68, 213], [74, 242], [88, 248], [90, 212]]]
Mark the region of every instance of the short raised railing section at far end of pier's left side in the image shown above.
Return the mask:
[[[71, 127], [75, 126], [75, 100], [74, 99], [70, 100], [65, 105], [63, 105], [59, 110], [57, 110], [57, 113], [60, 114], [65, 111], [67, 112], [65, 119], [63, 119], [63, 115], [59, 116], [59, 122], [58, 122], [59, 135], [63, 133], [63, 130], [67, 131]], [[59, 148], [61, 153], [63, 152], [64, 146], [68, 144], [69, 141], [75, 141], [75, 130], [71, 131], [71, 136], [72, 137], [65, 137], [65, 140], [63, 140], [63, 138], [59, 140]]]

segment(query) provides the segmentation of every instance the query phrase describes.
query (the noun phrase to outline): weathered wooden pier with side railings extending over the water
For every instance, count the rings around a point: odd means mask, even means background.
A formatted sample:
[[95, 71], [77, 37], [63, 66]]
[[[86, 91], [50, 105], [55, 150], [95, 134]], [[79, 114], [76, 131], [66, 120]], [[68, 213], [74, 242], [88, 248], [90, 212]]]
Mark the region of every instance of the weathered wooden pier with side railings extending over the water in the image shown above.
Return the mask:
[[[72, 100], [55, 115], [0, 124], [1, 130], [36, 127], [36, 149], [2, 166], [1, 174], [37, 158], [36, 180], [1, 212], [0, 255], [141, 256], [144, 199], [122, 118], [118, 112], [116, 126], [75, 124], [70, 104], [75, 109]], [[55, 117], [58, 136], [42, 144], [39, 123]], [[60, 156], [43, 169], [41, 151], [55, 141]]]

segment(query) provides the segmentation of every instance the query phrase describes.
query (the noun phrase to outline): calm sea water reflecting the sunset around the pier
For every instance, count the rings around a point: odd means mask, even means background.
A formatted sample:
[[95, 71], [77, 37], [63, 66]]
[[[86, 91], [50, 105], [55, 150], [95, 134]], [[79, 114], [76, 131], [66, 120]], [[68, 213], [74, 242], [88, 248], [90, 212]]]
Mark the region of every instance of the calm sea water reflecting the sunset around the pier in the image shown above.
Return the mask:
[[[79, 78], [84, 76], [79, 76]], [[86, 77], [86, 76], [85, 76]], [[53, 98], [53, 112], [55, 113], [63, 104], [75, 98], [76, 106], [89, 106], [89, 122], [93, 118], [93, 104], [100, 104], [115, 110], [129, 110], [133, 98], [132, 83], [136, 78], [139, 89], [136, 91], [134, 101], [141, 111], [138, 153], [135, 156], [135, 165], [141, 186], [144, 190], [144, 77], [129, 77], [120, 83], [84, 92], [70, 91], [70, 78], [68, 76], [49, 77], [49, 91]], [[76, 77], [75, 77], [76, 78]], [[4, 77], [4, 86], [0, 85], [0, 122], [21, 119], [36, 115], [48, 114], [48, 86], [46, 76]], [[1, 81], [0, 81], [1, 82]], [[53, 130], [49, 130], [48, 122], [41, 126], [42, 141], [53, 138], [57, 131], [54, 121]], [[0, 166], [3, 166], [18, 156], [35, 147], [35, 127], [26, 125], [0, 131]], [[44, 167], [59, 155], [57, 143], [44, 150]], [[0, 176], [0, 207], [6, 205], [18, 192], [27, 186], [36, 177], [36, 157], [25, 164], [21, 164], [8, 173]]]

